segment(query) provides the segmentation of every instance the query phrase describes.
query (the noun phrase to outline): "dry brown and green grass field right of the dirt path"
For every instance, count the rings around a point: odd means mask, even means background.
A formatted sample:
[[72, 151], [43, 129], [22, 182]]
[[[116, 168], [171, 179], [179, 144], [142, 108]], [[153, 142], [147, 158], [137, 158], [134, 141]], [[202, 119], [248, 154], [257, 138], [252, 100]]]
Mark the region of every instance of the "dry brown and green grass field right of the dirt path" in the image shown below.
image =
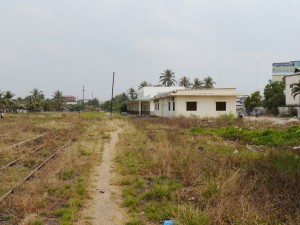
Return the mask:
[[299, 224], [299, 137], [299, 123], [231, 115], [130, 119], [117, 158], [127, 224]]

